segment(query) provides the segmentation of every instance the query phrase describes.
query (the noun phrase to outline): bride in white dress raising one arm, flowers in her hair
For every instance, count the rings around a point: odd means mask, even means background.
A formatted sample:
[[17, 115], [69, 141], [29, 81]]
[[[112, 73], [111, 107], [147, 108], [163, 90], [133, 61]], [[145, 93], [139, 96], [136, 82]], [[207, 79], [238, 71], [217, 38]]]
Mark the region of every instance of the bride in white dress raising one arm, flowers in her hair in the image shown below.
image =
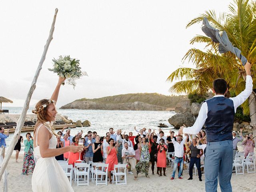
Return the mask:
[[52, 130], [57, 110], [55, 107], [60, 86], [65, 78], [60, 77], [50, 100], [42, 99], [32, 112], [37, 115], [34, 129], [34, 156], [36, 166], [32, 175], [33, 192], [73, 192], [68, 177], [58, 164], [55, 156], [65, 152], [81, 152], [82, 146], [66, 146], [57, 148], [57, 140]]

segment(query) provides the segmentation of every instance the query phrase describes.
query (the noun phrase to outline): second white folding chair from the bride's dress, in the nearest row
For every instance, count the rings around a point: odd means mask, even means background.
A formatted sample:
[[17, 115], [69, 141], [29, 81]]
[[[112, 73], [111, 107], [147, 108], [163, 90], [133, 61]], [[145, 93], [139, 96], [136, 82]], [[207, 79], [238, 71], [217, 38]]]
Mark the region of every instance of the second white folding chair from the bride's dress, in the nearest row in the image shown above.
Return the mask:
[[[79, 180], [79, 176], [84, 176], [84, 182], [81, 182], [82, 180]], [[90, 165], [87, 163], [79, 163], [76, 164], [76, 179], [77, 179], [77, 186], [79, 185], [89, 185], [89, 178], [90, 178]]]

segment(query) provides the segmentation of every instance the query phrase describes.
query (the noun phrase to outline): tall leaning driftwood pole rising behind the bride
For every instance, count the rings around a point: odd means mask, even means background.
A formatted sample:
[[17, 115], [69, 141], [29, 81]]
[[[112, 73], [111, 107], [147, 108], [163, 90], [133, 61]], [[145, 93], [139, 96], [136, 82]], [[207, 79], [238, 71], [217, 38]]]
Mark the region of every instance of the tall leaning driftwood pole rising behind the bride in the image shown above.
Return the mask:
[[56, 21], [57, 13], [58, 13], [58, 9], [56, 8], [55, 9], [54, 18], [53, 18], [53, 21], [52, 21], [52, 27], [51, 27], [51, 30], [50, 30], [50, 34], [49, 34], [48, 40], [47, 40], [47, 42], [46, 42], [46, 44], [44, 46], [44, 52], [42, 54], [41, 60], [40, 60], [39, 65], [38, 65], [38, 68], [36, 70], [36, 74], [35, 74], [34, 79], [32, 81], [30, 90], [29, 90], [29, 92], [27, 94], [26, 101], [25, 101], [23, 109], [22, 109], [22, 113], [20, 115], [20, 118], [18, 119], [17, 127], [16, 127], [16, 130], [14, 132], [14, 136], [13, 136], [12, 142], [11, 142], [9, 148], [8, 148], [8, 151], [6, 153], [6, 156], [5, 156], [4, 160], [3, 160], [3, 163], [2, 163], [1, 168], [0, 168], [0, 180], [2, 178], [4, 170], [6, 169], [8, 161], [10, 160], [10, 157], [11, 157], [12, 152], [14, 150], [14, 146], [16, 145], [16, 143], [18, 141], [18, 137], [20, 136], [20, 130], [21, 130], [21, 128], [24, 125], [24, 122], [25, 122], [25, 119], [26, 119], [26, 114], [27, 114], [27, 111], [28, 111], [28, 108], [29, 108], [30, 99], [31, 99], [31, 96], [32, 96], [35, 88], [36, 88], [36, 81], [37, 81], [39, 73], [40, 73], [40, 71], [42, 69], [42, 64], [43, 64], [43, 62], [45, 60], [45, 56], [46, 56], [48, 47], [49, 47], [50, 42], [52, 40], [52, 35], [53, 35], [53, 32], [54, 32], [54, 24], [55, 24], [55, 21]]

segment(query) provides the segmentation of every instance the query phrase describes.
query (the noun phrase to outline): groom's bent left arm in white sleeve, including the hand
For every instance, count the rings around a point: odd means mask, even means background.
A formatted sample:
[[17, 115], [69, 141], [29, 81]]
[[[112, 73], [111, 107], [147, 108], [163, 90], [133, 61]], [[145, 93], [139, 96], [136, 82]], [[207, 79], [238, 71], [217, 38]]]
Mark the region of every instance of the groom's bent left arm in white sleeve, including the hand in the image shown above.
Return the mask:
[[200, 108], [200, 111], [198, 113], [198, 117], [196, 119], [196, 122], [191, 127], [180, 127], [180, 134], [187, 133], [187, 134], [198, 134], [202, 127], [204, 126], [204, 123], [207, 119], [207, 113], [208, 113], [208, 106], [207, 103], [204, 102]]

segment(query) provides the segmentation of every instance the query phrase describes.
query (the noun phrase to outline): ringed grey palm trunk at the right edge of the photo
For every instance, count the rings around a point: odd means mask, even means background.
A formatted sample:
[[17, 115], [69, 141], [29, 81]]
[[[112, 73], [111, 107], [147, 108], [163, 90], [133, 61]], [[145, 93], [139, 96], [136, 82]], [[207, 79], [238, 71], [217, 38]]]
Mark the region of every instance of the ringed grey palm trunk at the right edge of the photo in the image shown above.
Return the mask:
[[[250, 108], [250, 118], [251, 118], [251, 127], [252, 133], [256, 136], [256, 94], [252, 92], [248, 98], [249, 108]], [[254, 142], [256, 142], [256, 138], [254, 138]]]

